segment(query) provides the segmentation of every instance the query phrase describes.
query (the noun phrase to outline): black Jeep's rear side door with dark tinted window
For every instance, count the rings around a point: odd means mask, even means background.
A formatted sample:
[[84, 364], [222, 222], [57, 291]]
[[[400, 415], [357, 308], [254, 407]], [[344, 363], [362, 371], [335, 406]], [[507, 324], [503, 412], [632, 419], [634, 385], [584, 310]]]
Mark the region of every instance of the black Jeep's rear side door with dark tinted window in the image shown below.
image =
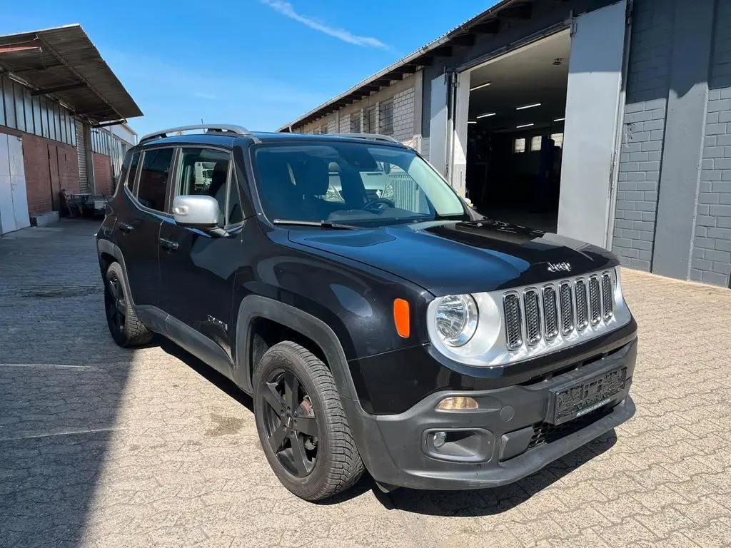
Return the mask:
[[[160, 224], [164, 218], [175, 148], [152, 148], [135, 153], [129, 167], [125, 207], [117, 215], [114, 240], [124, 263], [136, 305], [159, 306], [158, 265]], [[134, 185], [134, 186], [132, 186]]]

